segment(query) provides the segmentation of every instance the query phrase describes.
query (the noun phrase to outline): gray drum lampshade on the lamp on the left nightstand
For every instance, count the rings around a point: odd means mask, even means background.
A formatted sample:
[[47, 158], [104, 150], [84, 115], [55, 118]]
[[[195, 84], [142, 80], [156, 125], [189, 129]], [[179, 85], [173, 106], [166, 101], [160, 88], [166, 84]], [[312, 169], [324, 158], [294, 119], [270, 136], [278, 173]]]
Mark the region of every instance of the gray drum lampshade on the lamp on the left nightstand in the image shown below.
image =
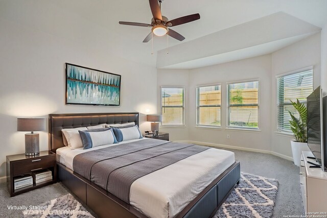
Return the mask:
[[44, 118], [17, 118], [17, 131], [34, 132], [45, 130]]

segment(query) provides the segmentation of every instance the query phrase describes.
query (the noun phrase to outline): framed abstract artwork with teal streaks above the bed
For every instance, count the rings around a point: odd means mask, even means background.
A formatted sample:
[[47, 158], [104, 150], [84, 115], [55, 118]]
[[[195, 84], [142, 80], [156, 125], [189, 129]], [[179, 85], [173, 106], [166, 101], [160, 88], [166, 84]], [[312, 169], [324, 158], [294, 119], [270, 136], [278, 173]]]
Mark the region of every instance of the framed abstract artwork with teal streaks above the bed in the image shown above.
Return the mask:
[[120, 105], [121, 75], [66, 63], [66, 105]]

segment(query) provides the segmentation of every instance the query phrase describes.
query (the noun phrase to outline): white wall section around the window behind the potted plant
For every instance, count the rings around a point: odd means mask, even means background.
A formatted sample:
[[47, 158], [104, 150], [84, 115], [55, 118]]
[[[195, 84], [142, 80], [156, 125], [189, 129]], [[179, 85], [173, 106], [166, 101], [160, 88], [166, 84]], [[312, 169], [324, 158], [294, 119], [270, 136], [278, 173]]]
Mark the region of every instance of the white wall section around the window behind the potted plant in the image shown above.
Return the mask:
[[290, 140], [293, 137], [276, 133], [276, 76], [287, 72], [314, 66], [313, 87], [320, 85], [320, 33], [289, 45], [271, 55], [271, 150], [286, 156], [292, 156]]

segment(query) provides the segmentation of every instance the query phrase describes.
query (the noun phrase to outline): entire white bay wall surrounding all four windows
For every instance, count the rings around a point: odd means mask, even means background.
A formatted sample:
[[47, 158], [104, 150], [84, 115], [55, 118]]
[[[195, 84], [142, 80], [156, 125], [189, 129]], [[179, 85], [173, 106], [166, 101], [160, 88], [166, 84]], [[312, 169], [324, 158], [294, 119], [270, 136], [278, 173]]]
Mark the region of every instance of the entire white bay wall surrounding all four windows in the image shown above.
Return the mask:
[[[158, 112], [160, 112], [160, 85], [184, 85], [185, 96], [188, 99], [185, 104], [185, 114], [188, 115], [188, 118], [185, 118], [186, 130], [175, 128], [161, 128], [161, 130], [173, 134], [172, 140], [192, 140], [266, 150], [284, 157], [292, 157], [290, 140], [293, 137], [275, 133], [276, 75], [313, 65], [314, 88], [320, 85], [320, 82], [322, 86], [327, 87], [327, 28], [322, 34], [324, 38], [321, 40], [318, 33], [270, 55], [191, 69], [189, 73], [188, 70], [158, 70]], [[325, 64], [324, 67], [321, 64], [321, 69], [324, 70], [321, 77], [320, 61]], [[196, 127], [195, 88], [197, 85], [220, 82], [222, 96], [226, 96], [226, 82], [255, 78], [260, 79], [260, 132], [226, 131], [226, 98], [222, 98], [221, 130]], [[227, 139], [227, 134], [230, 135], [230, 139]]]

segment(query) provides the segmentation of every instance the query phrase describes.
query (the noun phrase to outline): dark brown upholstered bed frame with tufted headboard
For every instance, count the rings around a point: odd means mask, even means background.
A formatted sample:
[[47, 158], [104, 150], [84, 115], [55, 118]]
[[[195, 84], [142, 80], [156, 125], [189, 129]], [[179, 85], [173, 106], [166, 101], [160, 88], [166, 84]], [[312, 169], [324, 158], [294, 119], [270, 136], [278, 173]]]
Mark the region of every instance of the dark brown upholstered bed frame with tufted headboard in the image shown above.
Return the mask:
[[[139, 125], [138, 113], [75, 113], [49, 115], [49, 150], [56, 152], [64, 147], [61, 130], [68, 128], [96, 126], [99, 124], [124, 124], [135, 122]], [[100, 217], [148, 218], [142, 212], [105, 189], [90, 182], [57, 162], [58, 181], [61, 181], [80, 200]], [[240, 163], [235, 162], [212, 181], [199, 195], [180, 211], [176, 218], [212, 217], [229, 193], [240, 181]]]

